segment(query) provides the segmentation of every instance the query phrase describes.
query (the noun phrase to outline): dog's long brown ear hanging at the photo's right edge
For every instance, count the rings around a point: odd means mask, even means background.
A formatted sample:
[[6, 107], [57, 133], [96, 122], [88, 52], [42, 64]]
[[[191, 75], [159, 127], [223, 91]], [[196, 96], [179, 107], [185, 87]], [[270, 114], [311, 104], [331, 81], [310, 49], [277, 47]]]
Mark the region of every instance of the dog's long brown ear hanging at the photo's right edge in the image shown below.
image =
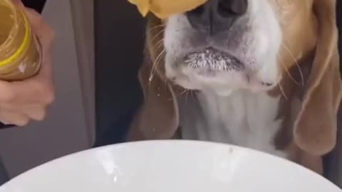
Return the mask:
[[336, 145], [336, 114], [341, 101], [336, 0], [314, 0], [314, 14], [318, 21], [316, 55], [294, 124], [294, 139], [304, 151], [322, 155]]

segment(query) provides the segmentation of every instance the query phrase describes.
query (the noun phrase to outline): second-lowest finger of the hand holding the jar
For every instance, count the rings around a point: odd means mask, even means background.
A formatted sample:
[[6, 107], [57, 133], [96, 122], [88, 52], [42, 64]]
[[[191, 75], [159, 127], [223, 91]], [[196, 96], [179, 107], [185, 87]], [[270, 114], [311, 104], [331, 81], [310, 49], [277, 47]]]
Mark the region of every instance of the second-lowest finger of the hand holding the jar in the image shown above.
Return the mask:
[[47, 107], [43, 105], [2, 105], [2, 110], [24, 114], [30, 119], [42, 121], [46, 117]]

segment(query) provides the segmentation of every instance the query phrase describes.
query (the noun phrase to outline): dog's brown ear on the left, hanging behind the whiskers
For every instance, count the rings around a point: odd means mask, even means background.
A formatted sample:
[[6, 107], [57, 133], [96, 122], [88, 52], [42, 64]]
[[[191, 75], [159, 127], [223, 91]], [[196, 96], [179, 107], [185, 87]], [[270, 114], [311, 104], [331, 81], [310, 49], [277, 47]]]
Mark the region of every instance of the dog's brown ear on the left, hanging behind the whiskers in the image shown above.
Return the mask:
[[138, 74], [144, 101], [130, 127], [130, 141], [172, 139], [177, 132], [179, 114], [175, 92], [163, 75], [162, 31], [162, 21], [149, 15], [145, 58]]

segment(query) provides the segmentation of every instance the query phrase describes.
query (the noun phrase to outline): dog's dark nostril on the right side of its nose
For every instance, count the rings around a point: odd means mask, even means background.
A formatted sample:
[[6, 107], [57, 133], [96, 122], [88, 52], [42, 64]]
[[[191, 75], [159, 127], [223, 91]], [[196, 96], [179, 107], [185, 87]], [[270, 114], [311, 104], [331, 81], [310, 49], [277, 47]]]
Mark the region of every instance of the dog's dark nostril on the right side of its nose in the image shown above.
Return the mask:
[[247, 0], [219, 0], [217, 12], [222, 17], [241, 16], [247, 11]]

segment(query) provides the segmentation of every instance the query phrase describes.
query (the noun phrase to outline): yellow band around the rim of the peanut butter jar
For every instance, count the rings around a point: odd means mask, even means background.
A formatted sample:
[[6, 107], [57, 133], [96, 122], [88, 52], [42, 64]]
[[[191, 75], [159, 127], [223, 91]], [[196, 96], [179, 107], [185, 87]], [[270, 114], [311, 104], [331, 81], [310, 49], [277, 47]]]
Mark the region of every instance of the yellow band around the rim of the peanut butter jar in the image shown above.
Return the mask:
[[[14, 7], [11, 7], [11, 8], [15, 9]], [[31, 41], [30, 23], [28, 22], [28, 18], [24, 14], [24, 11], [21, 11], [21, 14], [24, 18], [24, 27], [25, 27], [24, 39], [21, 43], [21, 46], [19, 46], [18, 50], [16, 50], [16, 52], [13, 55], [11, 55], [9, 58], [6, 58], [6, 60], [0, 61], [0, 66], [9, 65], [9, 64], [13, 63], [17, 58], [19, 58], [21, 56], [21, 54], [24, 53], [24, 51], [26, 51], [26, 49], [29, 46], [29, 43]]]

